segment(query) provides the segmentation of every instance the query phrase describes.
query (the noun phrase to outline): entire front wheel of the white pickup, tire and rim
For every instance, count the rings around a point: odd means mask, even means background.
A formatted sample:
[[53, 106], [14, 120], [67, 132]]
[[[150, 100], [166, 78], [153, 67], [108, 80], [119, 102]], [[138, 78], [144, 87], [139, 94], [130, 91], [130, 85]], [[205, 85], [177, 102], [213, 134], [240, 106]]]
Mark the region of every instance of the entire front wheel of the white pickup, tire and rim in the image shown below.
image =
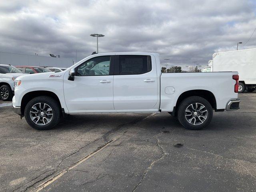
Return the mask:
[[61, 117], [58, 102], [48, 96], [39, 96], [28, 102], [25, 108], [27, 123], [37, 130], [49, 130], [54, 128]]

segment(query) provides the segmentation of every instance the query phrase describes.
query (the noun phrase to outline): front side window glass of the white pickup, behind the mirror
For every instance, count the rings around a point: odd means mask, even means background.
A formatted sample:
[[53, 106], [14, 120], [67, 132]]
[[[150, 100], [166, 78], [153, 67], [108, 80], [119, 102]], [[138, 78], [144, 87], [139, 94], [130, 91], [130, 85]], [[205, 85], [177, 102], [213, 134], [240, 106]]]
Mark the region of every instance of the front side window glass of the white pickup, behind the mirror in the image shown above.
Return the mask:
[[95, 57], [78, 66], [77, 76], [109, 75], [110, 56]]

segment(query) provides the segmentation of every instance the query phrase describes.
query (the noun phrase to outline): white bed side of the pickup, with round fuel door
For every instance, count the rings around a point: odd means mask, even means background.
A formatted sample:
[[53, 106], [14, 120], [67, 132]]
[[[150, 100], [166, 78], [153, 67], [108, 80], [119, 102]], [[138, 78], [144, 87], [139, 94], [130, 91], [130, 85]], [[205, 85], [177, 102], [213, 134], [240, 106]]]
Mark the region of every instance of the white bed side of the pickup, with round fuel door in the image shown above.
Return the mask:
[[190, 90], [208, 90], [216, 98], [216, 109], [226, 108], [230, 98], [236, 98], [233, 75], [238, 72], [211, 73], [162, 73], [161, 74], [161, 111], [169, 112], [176, 106], [179, 96]]

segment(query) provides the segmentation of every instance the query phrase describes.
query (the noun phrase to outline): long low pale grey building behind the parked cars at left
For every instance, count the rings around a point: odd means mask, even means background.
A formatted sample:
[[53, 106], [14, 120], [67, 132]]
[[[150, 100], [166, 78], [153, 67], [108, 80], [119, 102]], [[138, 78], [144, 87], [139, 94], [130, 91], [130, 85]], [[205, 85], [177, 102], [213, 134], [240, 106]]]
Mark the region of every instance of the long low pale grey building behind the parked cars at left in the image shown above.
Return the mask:
[[74, 60], [69, 58], [0, 52], [0, 64], [68, 68], [74, 64]]

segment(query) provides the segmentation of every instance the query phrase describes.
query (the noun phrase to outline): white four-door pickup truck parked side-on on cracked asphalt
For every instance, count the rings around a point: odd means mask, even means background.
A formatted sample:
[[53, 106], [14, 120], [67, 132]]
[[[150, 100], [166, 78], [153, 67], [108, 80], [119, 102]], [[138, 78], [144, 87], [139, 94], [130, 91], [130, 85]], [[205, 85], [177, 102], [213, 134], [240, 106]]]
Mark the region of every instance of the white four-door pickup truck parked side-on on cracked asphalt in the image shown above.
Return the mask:
[[161, 73], [156, 53], [94, 54], [68, 70], [20, 76], [14, 84], [14, 112], [38, 130], [53, 128], [65, 114], [127, 112], [169, 112], [199, 130], [213, 110], [237, 110], [240, 102], [238, 72]]

